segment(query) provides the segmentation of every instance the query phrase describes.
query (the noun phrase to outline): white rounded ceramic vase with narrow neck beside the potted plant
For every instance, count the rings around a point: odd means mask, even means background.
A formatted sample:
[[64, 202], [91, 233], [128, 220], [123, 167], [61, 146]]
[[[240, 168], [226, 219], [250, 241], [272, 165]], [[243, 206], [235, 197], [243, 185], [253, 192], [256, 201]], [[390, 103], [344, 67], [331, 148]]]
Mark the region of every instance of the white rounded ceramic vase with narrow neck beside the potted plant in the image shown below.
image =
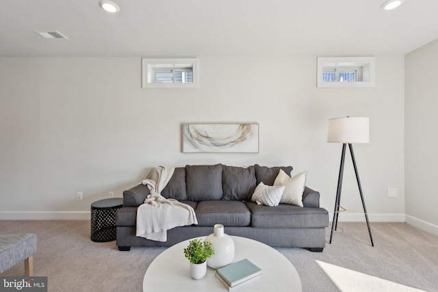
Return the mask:
[[214, 255], [207, 258], [207, 265], [213, 269], [219, 269], [225, 265], [233, 263], [234, 260], [234, 241], [229, 235], [224, 233], [224, 226], [216, 224], [214, 232], [204, 240], [211, 243]]

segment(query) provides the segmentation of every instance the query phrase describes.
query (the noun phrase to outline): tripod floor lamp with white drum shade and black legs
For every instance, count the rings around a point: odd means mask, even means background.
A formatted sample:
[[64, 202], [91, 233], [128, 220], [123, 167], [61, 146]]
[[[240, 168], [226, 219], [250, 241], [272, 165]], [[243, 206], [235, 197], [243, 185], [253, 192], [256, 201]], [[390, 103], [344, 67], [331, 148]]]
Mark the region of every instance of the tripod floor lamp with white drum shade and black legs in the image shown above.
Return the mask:
[[367, 221], [368, 233], [370, 233], [371, 245], [374, 246], [371, 235], [370, 222], [368, 221], [368, 213], [365, 207], [365, 200], [363, 200], [361, 181], [359, 180], [359, 172], [357, 172], [357, 165], [355, 153], [353, 152], [353, 143], [370, 143], [370, 119], [369, 118], [333, 118], [329, 120], [329, 134], [327, 135], [327, 142], [342, 143], [341, 166], [339, 168], [339, 177], [337, 180], [337, 191], [335, 200], [335, 211], [333, 212], [333, 223], [331, 226], [330, 243], [333, 238], [333, 230], [337, 228], [337, 218], [339, 217], [339, 208], [346, 211], [339, 204], [341, 203], [341, 189], [342, 176], [344, 175], [344, 161], [346, 146], [350, 149], [353, 167], [355, 168], [357, 185], [359, 186], [359, 194], [361, 194], [363, 212], [365, 213], [365, 220]]

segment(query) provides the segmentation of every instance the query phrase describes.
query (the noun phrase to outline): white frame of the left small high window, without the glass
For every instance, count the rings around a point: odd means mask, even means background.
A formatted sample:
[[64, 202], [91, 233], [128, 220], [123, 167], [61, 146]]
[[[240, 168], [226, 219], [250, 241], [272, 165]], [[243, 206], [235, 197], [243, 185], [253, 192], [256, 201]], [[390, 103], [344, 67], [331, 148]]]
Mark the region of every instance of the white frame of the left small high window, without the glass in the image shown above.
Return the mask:
[[[154, 83], [155, 70], [191, 70], [192, 83]], [[198, 88], [199, 71], [196, 58], [142, 58], [142, 88]]]

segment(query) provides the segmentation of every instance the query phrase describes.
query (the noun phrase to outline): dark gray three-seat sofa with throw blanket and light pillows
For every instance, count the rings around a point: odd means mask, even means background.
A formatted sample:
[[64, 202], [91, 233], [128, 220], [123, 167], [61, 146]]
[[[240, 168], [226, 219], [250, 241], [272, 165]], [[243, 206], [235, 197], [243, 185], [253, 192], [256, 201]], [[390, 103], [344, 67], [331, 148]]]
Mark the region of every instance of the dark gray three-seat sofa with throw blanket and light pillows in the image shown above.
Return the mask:
[[320, 208], [320, 193], [305, 187], [304, 207], [279, 204], [268, 207], [251, 202], [253, 191], [260, 182], [273, 185], [282, 169], [251, 165], [248, 168], [216, 165], [186, 165], [175, 168], [162, 196], [175, 198], [193, 207], [197, 225], [181, 226], [167, 231], [167, 241], [152, 241], [136, 237], [136, 211], [149, 194], [146, 185], [137, 185], [123, 192], [123, 208], [116, 213], [119, 250], [131, 246], [170, 246], [213, 233], [214, 224], [223, 224], [228, 235], [248, 237], [270, 246], [309, 248], [322, 252], [329, 213]]

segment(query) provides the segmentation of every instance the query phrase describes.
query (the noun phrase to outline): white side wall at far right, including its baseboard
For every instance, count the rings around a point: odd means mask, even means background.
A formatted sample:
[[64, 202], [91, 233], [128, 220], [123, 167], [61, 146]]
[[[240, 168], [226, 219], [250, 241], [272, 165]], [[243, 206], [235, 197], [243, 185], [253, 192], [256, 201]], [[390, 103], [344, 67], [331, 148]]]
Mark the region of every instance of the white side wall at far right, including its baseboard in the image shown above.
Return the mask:
[[438, 40], [405, 57], [407, 222], [438, 235]]

